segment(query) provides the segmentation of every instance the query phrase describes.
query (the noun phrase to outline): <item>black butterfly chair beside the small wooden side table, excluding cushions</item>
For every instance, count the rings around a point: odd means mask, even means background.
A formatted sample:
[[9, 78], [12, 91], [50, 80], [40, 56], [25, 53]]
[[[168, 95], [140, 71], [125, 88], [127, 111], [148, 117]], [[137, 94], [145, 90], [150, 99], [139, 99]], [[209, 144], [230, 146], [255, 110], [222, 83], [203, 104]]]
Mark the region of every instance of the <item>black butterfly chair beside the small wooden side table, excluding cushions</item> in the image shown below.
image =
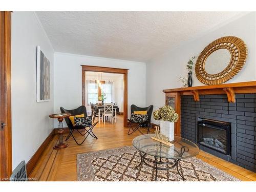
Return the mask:
[[[81, 114], [84, 114], [84, 117], [88, 117], [87, 116], [87, 111], [86, 111], [86, 106], [79, 106], [79, 108], [77, 108], [77, 109], [74, 109], [74, 110], [66, 110], [66, 109], [64, 109], [64, 108], [60, 108], [60, 111], [61, 111], [61, 113], [70, 113], [72, 116], [74, 116], [74, 115], [81, 115]], [[82, 126], [82, 125], [73, 125], [72, 124], [72, 122], [71, 122], [71, 120], [70, 120], [70, 118], [69, 117], [66, 117], [65, 118], [65, 121], [66, 121], [66, 123], [67, 123], [67, 125], [68, 125], [68, 127], [69, 127], [69, 129], [70, 129], [70, 133], [69, 133], [69, 136], [67, 137], [67, 139], [66, 139], [66, 141], [70, 138], [70, 136], [72, 136], [73, 138], [74, 138], [74, 140], [75, 140], [75, 142], [76, 142], [76, 144], [78, 144], [78, 145], [81, 145], [86, 139], [87, 139], [87, 137], [89, 136], [89, 135], [91, 135], [93, 138], [95, 138], [95, 139], [98, 139], [95, 135], [94, 135], [94, 133], [93, 133], [93, 128], [95, 127], [95, 125], [98, 123], [98, 121], [97, 122], [95, 122], [95, 123], [91, 123], [91, 124], [89, 124], [88, 126]], [[76, 141], [76, 138], [74, 137], [74, 135], [73, 135], [73, 132], [74, 131], [77, 131], [80, 135], [82, 135], [82, 136], [84, 136], [84, 139], [83, 139], [83, 141], [81, 142], [81, 143], [78, 143], [77, 141]], [[81, 130], [84, 130], [86, 133], [81, 133], [80, 131]]]

